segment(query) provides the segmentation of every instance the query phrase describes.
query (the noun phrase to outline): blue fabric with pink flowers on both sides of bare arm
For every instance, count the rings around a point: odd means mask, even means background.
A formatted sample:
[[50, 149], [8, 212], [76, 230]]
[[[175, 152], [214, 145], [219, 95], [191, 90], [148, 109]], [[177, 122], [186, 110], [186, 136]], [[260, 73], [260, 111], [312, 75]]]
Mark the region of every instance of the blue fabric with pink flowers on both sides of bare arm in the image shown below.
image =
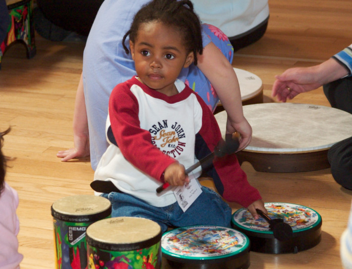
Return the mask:
[[[222, 51], [229, 62], [232, 63], [234, 48], [226, 35], [213, 25], [203, 24], [202, 29], [209, 36], [211, 41]], [[215, 110], [219, 98], [209, 80], [194, 64], [189, 66], [185, 83], [202, 97], [212, 111]]]

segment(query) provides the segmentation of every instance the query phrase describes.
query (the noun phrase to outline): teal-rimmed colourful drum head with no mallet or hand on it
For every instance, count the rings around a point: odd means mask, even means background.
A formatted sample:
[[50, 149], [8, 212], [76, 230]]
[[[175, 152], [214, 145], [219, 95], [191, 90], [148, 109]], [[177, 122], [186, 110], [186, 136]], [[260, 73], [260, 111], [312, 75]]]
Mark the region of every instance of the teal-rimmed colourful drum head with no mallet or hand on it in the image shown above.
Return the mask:
[[164, 255], [190, 260], [230, 257], [249, 248], [243, 233], [220, 226], [188, 226], [164, 233], [161, 239]]

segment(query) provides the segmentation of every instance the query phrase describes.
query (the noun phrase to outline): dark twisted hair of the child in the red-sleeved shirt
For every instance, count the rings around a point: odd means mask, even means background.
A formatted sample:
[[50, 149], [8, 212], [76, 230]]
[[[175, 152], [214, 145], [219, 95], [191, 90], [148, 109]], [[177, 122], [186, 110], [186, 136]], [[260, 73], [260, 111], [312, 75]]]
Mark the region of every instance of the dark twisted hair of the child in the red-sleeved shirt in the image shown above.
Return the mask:
[[134, 43], [140, 24], [151, 21], [160, 21], [175, 27], [183, 36], [186, 49], [189, 52], [193, 51], [194, 64], [197, 65], [197, 52], [203, 53], [202, 32], [191, 1], [153, 0], [144, 5], [134, 16], [131, 28], [122, 39], [122, 45], [127, 54], [129, 53], [125, 45], [127, 36], [129, 35], [129, 39]]

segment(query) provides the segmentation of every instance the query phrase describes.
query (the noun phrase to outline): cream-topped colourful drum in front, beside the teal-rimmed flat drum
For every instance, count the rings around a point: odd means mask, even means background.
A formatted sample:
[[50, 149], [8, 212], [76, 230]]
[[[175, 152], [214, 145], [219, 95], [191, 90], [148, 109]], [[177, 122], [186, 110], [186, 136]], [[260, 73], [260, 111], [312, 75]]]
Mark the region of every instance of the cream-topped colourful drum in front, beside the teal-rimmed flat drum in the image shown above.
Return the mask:
[[160, 225], [144, 218], [117, 217], [87, 229], [88, 269], [160, 269]]

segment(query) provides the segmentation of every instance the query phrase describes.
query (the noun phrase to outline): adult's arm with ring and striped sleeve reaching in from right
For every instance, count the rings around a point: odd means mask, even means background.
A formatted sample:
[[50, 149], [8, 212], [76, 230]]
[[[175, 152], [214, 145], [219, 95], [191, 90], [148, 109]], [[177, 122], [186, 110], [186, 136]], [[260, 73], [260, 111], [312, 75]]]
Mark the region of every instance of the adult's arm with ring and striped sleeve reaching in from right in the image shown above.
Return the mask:
[[283, 74], [275, 76], [272, 96], [286, 102], [301, 92], [315, 90], [324, 84], [349, 76], [351, 70], [352, 45], [321, 64], [290, 68]]

